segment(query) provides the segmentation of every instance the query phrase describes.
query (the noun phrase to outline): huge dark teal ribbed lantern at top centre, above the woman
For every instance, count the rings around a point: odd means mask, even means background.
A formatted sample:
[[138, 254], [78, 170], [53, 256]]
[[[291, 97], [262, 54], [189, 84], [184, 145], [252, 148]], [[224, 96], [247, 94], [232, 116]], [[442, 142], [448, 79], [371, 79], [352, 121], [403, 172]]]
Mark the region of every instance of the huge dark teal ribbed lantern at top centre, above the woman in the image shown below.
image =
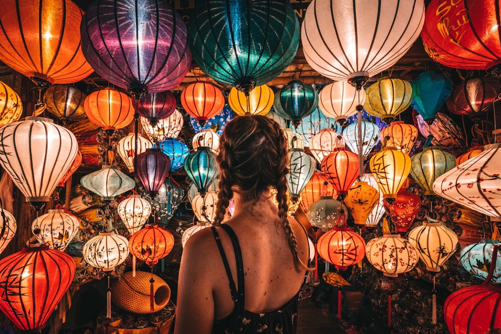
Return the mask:
[[287, 0], [195, 2], [189, 44], [200, 69], [224, 85], [249, 92], [275, 79], [299, 46], [299, 20]]

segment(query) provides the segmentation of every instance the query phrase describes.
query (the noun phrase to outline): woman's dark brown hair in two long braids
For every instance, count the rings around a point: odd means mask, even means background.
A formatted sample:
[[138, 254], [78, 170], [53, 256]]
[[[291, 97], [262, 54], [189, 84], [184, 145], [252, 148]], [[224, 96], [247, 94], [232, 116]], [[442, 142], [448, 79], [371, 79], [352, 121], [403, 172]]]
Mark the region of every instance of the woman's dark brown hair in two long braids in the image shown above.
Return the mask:
[[298, 256], [297, 241], [287, 216], [287, 179], [289, 172], [286, 138], [280, 125], [266, 116], [239, 116], [229, 122], [219, 141], [219, 192], [214, 225], [224, 219], [232, 185], [241, 189], [245, 202], [257, 204], [270, 187], [277, 190], [279, 219], [296, 263], [305, 267]]

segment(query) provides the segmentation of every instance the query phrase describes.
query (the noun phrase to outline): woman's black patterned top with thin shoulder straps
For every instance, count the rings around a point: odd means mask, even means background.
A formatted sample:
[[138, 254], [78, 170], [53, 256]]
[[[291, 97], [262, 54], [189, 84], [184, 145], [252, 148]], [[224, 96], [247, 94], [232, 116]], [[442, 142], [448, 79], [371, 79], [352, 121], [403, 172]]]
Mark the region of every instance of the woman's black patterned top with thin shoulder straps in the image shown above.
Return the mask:
[[[297, 330], [299, 291], [284, 306], [266, 313], [254, 313], [245, 309], [245, 286], [243, 274], [243, 261], [240, 245], [235, 232], [226, 224], [219, 225], [228, 234], [233, 251], [235, 252], [237, 284], [236, 289], [233, 276], [229, 269], [228, 260], [224, 254], [224, 249], [219, 240], [219, 234], [215, 227], [211, 227], [217, 247], [226, 270], [229, 280], [229, 290], [231, 298], [235, 304], [233, 311], [226, 317], [214, 320], [212, 333], [214, 334], [232, 334], [232, 333], [270, 333], [270, 334], [293, 334]], [[301, 289], [300, 289], [301, 290]]]

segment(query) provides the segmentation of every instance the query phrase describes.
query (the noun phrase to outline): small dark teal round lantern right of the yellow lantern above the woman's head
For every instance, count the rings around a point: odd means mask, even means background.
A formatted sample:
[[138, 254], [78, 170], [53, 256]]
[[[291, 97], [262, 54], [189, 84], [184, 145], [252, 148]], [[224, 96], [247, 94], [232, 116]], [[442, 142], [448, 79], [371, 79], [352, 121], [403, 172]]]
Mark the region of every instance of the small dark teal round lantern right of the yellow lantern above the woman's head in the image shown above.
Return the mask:
[[293, 80], [275, 94], [273, 107], [297, 128], [301, 120], [318, 107], [318, 93], [311, 85]]

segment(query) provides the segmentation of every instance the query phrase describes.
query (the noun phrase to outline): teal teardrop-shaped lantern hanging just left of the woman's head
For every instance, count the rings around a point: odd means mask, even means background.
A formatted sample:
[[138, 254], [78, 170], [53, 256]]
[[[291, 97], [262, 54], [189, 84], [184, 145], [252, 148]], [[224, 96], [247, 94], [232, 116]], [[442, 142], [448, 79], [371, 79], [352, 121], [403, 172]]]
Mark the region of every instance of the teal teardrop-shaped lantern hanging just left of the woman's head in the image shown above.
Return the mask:
[[186, 157], [184, 170], [202, 197], [219, 174], [215, 154], [206, 146], [198, 147]]

